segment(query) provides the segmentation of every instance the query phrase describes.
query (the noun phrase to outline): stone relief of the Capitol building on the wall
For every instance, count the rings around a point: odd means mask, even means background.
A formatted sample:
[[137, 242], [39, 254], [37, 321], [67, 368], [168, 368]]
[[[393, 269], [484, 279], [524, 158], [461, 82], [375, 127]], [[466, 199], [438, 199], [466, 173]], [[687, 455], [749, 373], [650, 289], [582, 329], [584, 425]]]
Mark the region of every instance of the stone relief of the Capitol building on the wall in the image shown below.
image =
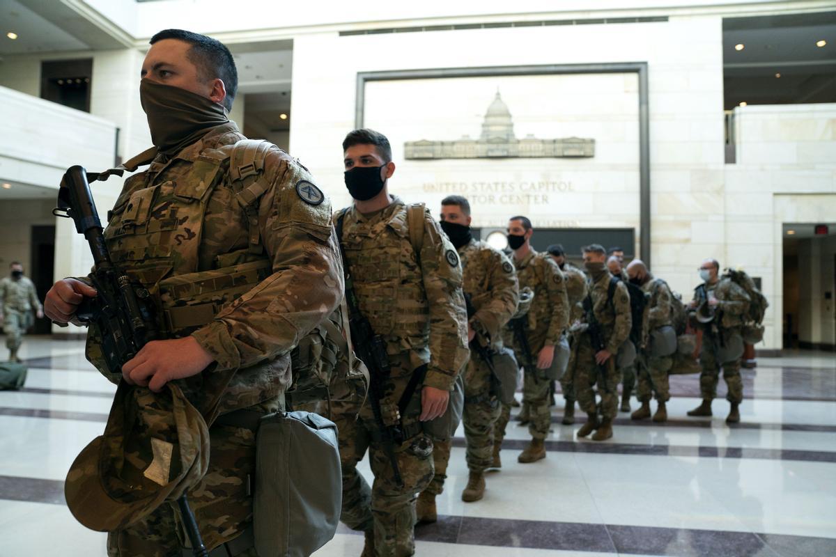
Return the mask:
[[465, 135], [451, 141], [407, 141], [406, 159], [492, 159], [492, 158], [556, 158], [592, 157], [595, 140], [579, 137], [538, 139], [528, 135], [517, 139], [511, 111], [497, 91], [487, 107], [479, 139]]

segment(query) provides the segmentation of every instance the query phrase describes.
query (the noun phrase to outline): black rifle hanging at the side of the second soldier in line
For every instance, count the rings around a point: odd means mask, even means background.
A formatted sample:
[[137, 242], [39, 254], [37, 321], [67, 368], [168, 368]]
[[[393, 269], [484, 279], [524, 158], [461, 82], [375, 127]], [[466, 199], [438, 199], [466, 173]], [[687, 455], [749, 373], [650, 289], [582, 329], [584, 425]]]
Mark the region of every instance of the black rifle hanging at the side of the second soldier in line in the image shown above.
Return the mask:
[[[399, 488], [404, 487], [404, 480], [400, 477], [398, 458], [395, 456], [395, 442], [399, 445], [404, 442], [404, 432], [400, 428], [400, 416], [394, 424], [387, 425], [380, 408], [380, 401], [385, 399], [384, 380], [390, 376], [389, 355], [386, 353], [386, 342], [383, 337], [375, 334], [371, 323], [359, 309], [359, 301], [354, 294], [354, 281], [352, 281], [348, 270], [348, 260], [345, 257], [343, 247], [343, 220], [345, 211], [339, 215], [337, 220], [337, 239], [339, 241], [339, 252], [343, 256], [345, 272], [345, 301], [349, 306], [349, 331], [351, 332], [351, 343], [354, 345], [354, 352], [357, 357], [369, 368], [369, 402], [372, 414], [375, 416], [375, 423], [380, 430], [380, 442], [386, 458], [392, 466], [392, 474], [395, 477], [395, 484]], [[413, 373], [412, 379], [421, 378]], [[414, 391], [417, 381], [410, 379], [410, 387]], [[405, 395], [407, 393], [405, 392]], [[411, 393], [409, 393], [411, 396]]]

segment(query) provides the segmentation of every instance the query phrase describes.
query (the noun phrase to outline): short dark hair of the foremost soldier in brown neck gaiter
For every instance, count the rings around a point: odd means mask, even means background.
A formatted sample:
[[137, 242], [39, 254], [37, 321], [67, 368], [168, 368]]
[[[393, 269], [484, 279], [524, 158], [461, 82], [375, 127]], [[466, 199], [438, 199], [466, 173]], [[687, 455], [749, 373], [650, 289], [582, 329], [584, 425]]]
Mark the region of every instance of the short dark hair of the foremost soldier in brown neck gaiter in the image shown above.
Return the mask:
[[235, 100], [238, 91], [238, 70], [229, 48], [216, 38], [183, 29], [166, 29], [156, 33], [148, 43], [154, 44], [166, 38], [176, 38], [178, 41], [191, 44], [186, 57], [189, 58], [189, 62], [195, 64], [197, 76], [204, 81], [220, 79], [227, 89], [227, 98], [223, 99], [223, 105], [227, 110], [232, 110], [232, 101]]

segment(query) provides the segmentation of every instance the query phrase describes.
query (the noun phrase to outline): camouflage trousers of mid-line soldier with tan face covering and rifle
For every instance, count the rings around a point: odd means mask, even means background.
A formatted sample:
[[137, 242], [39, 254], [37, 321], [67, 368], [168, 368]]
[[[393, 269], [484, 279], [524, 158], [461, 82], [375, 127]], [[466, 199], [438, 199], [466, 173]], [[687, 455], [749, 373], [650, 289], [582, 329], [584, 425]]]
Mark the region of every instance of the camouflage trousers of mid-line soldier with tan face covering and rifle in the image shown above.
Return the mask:
[[598, 386], [601, 396], [601, 416], [614, 419], [619, 411], [619, 380], [621, 376], [615, 369], [615, 354], [604, 362], [603, 366], [595, 364], [595, 351], [589, 336], [584, 335], [577, 344], [577, 357], [574, 367], [574, 388], [578, 396], [578, 404], [585, 413], [598, 413], [595, 403], [593, 387]]

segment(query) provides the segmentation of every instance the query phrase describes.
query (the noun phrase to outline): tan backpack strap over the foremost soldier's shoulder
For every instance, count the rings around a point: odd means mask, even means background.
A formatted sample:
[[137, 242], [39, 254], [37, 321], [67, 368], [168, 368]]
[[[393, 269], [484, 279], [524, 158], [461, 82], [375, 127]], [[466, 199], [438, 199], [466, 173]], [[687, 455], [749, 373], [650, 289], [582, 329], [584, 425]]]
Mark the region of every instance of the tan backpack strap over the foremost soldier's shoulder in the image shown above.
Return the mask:
[[258, 230], [258, 207], [256, 201], [270, 188], [264, 177], [264, 161], [273, 148], [266, 139], [241, 139], [232, 146], [229, 157], [229, 177], [235, 200], [247, 214], [247, 237], [249, 252], [261, 254], [261, 231]]

